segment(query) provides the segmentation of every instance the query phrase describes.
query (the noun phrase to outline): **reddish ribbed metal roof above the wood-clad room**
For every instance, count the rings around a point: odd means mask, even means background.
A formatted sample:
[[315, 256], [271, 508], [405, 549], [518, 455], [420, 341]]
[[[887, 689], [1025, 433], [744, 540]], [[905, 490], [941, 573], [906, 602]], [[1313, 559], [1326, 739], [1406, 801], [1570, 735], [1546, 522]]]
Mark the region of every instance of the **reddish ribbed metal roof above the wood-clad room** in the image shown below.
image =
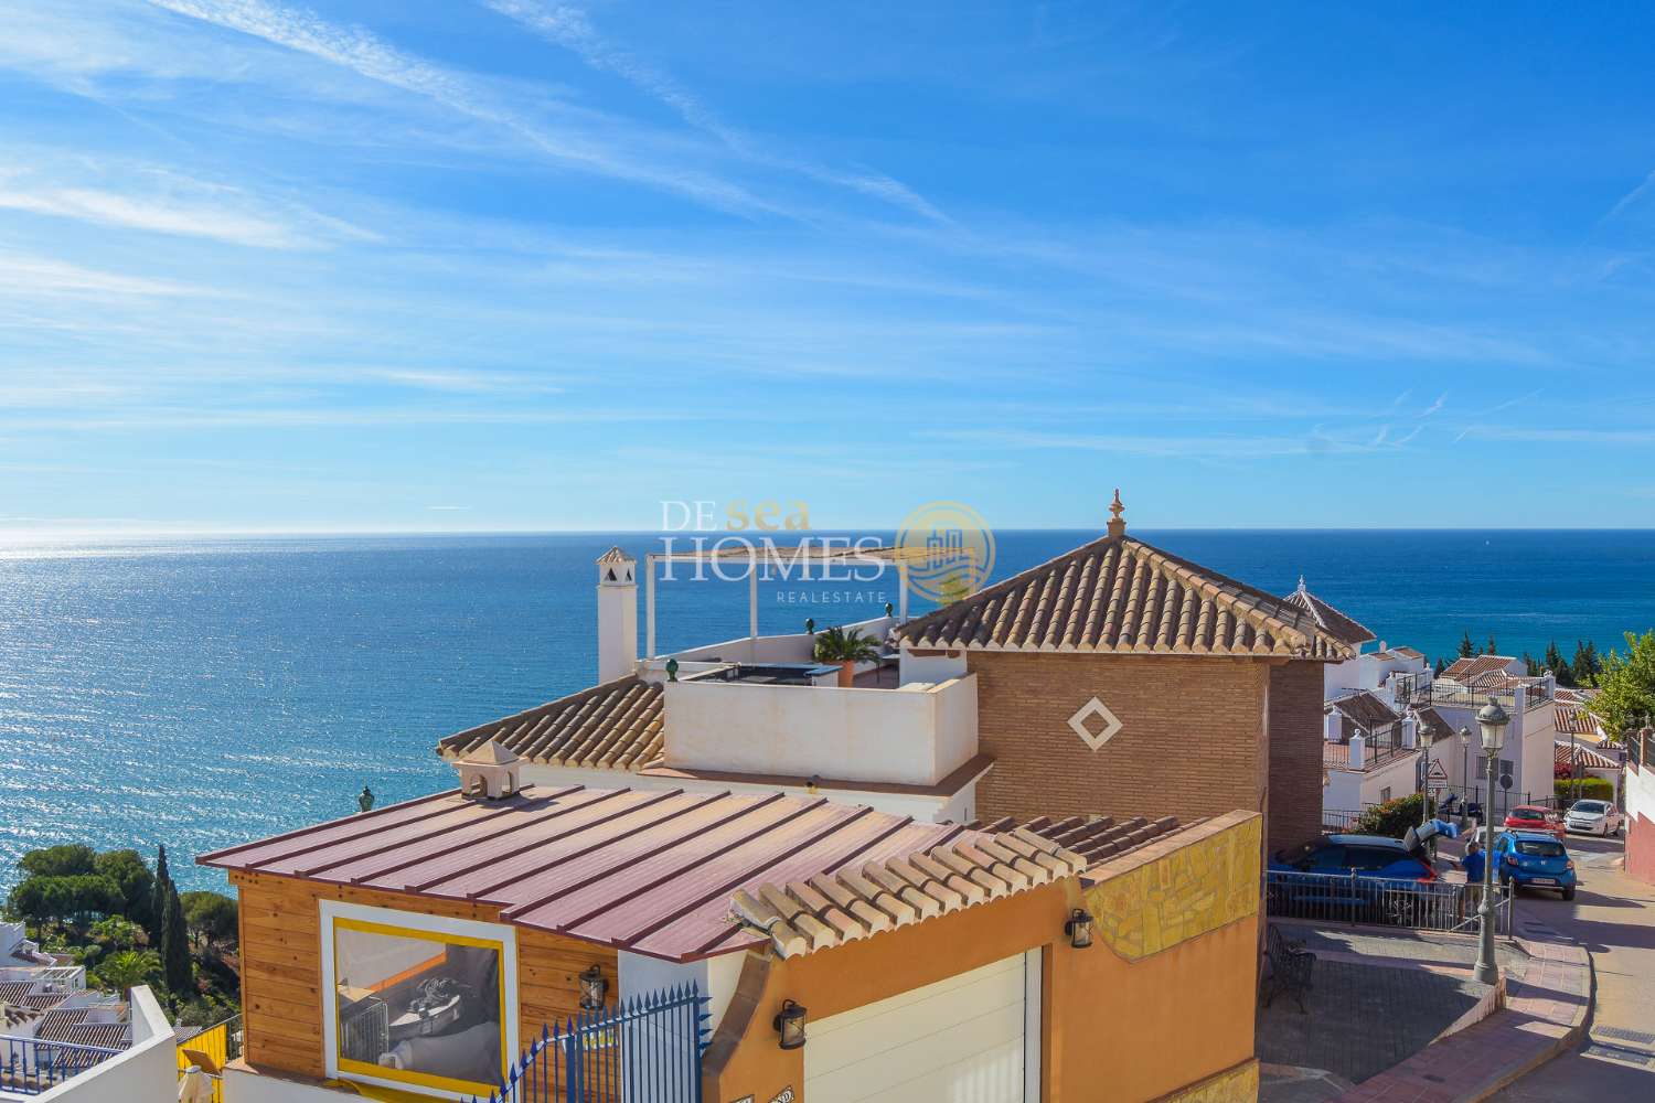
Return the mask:
[[501, 919], [690, 961], [765, 943], [740, 888], [923, 853], [980, 832], [783, 794], [458, 790], [202, 855], [202, 865], [496, 905]]

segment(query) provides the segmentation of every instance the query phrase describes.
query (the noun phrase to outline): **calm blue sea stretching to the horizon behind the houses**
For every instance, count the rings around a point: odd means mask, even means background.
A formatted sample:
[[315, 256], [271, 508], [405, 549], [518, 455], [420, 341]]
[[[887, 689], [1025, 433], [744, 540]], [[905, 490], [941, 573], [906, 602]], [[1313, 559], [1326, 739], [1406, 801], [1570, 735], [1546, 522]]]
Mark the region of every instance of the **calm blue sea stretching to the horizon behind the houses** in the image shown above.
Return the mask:
[[[1302, 572], [1390, 643], [1607, 650], [1655, 627], [1652, 532], [1134, 532], [1274, 592]], [[1001, 532], [995, 577], [1087, 532]], [[594, 678], [594, 567], [649, 534], [0, 547], [0, 886], [31, 847], [194, 855], [445, 787], [452, 731]], [[775, 584], [765, 632], [885, 584]], [[640, 602], [642, 605], [642, 602]], [[915, 612], [919, 612], [915, 605]], [[746, 633], [743, 582], [662, 584], [662, 650]], [[640, 632], [642, 643], [642, 632]]]

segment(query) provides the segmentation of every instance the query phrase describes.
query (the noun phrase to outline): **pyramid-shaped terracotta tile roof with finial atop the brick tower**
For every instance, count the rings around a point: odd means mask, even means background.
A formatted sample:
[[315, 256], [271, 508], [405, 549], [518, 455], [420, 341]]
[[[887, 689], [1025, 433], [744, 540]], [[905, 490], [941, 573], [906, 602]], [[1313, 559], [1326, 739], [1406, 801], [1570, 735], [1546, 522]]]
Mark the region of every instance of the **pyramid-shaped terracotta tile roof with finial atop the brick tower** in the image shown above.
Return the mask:
[[1349, 658], [1309, 610], [1106, 536], [897, 628], [915, 648]]

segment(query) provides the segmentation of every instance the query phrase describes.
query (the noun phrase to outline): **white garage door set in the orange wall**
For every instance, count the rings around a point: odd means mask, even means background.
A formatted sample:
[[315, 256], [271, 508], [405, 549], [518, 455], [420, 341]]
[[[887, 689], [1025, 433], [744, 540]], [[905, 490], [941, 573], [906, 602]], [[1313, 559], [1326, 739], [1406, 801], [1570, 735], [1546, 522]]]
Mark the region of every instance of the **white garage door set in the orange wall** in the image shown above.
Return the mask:
[[1039, 951], [808, 1027], [806, 1103], [1039, 1098]]

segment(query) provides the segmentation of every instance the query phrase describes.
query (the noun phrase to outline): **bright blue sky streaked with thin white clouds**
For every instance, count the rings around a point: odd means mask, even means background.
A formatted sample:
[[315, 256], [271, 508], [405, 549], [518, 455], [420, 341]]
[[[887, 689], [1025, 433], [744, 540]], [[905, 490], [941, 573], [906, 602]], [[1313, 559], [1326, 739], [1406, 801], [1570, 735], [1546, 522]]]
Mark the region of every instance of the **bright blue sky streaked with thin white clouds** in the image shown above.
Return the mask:
[[1630, 7], [0, 18], [0, 537], [1655, 524]]

